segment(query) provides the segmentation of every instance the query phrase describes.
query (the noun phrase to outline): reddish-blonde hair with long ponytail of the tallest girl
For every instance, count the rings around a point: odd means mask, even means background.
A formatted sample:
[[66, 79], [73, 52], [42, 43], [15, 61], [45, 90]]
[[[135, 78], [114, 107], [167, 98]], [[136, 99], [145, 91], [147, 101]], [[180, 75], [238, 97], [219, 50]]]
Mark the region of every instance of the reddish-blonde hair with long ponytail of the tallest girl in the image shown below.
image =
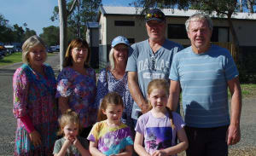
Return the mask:
[[[169, 84], [165, 79], [153, 79], [152, 81], [150, 81], [150, 83], [148, 84], [148, 96], [151, 94], [151, 92], [154, 89], [162, 89], [166, 91], [166, 95], [169, 95]], [[148, 110], [151, 110], [153, 107], [150, 103], [150, 101], [148, 101]], [[173, 117], [172, 117], [172, 110], [169, 107], [166, 107], [167, 112], [169, 113], [169, 118], [171, 120], [171, 125], [172, 125], [172, 129], [175, 129], [175, 125], [173, 123]]]

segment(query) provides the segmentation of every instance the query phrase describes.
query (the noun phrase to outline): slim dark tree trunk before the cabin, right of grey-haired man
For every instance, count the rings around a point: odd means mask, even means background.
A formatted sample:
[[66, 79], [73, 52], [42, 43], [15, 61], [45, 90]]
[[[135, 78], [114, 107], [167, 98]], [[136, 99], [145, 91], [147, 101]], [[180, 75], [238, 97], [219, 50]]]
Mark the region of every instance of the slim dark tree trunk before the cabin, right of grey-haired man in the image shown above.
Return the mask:
[[233, 26], [233, 23], [232, 23], [232, 20], [231, 20], [231, 15], [228, 16], [228, 22], [229, 22], [229, 25], [230, 25], [230, 32], [232, 34], [232, 43], [234, 44], [235, 49], [236, 49], [236, 55], [235, 55], [234, 60], [236, 62], [237, 61], [241, 62], [241, 57], [240, 57], [241, 55], [240, 55], [240, 51], [239, 51], [239, 41], [238, 41], [238, 38], [237, 38], [237, 35], [236, 35], [235, 27]]

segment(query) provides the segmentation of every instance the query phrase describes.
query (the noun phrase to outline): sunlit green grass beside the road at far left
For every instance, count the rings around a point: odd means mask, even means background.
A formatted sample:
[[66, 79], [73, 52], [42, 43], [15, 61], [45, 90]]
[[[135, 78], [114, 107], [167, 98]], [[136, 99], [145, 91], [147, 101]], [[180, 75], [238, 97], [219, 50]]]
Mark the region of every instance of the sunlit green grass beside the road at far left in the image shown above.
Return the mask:
[[[3, 59], [0, 60], [0, 66], [7, 66], [7, 65], [10, 65], [10, 64], [14, 64], [14, 63], [22, 61], [21, 55], [22, 55], [21, 52], [16, 52], [16, 53], [11, 54], [11, 55], [5, 55], [3, 57]], [[54, 53], [48, 53], [47, 55], [50, 56], [50, 55], [55, 55], [55, 54]]]

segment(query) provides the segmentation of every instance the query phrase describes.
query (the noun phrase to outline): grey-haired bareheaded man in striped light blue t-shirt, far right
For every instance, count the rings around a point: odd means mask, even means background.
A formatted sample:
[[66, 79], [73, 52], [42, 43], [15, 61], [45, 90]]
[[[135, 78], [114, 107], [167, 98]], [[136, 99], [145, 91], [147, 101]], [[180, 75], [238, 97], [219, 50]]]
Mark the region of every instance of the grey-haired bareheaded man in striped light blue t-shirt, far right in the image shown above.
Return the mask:
[[241, 137], [241, 88], [236, 64], [227, 49], [210, 43], [212, 20], [207, 15], [194, 14], [185, 25], [191, 46], [173, 58], [169, 107], [177, 108], [182, 89], [187, 156], [225, 156], [228, 145], [236, 144]]

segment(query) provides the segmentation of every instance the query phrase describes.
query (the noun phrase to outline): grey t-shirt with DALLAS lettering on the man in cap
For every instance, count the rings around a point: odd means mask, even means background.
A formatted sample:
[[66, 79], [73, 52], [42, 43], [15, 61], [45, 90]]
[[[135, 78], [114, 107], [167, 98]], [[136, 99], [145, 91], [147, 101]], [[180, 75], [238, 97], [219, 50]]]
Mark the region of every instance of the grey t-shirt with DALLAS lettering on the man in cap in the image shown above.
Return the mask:
[[[169, 82], [169, 73], [173, 55], [183, 49], [183, 46], [170, 40], [164, 42], [155, 53], [150, 48], [148, 39], [131, 45], [126, 72], [137, 72], [138, 85], [144, 98], [147, 98], [148, 83], [154, 78], [164, 78]], [[136, 102], [133, 104], [131, 118], [137, 119]]]

